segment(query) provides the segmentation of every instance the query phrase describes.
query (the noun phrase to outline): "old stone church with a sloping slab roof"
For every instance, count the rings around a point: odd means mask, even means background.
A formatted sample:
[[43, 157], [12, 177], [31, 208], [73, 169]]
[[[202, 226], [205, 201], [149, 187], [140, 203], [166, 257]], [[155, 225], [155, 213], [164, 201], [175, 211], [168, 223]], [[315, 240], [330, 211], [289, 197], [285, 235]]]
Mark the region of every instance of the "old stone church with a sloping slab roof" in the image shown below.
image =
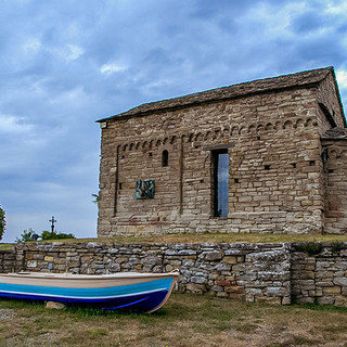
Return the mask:
[[347, 128], [333, 67], [98, 121], [99, 236], [347, 233]]

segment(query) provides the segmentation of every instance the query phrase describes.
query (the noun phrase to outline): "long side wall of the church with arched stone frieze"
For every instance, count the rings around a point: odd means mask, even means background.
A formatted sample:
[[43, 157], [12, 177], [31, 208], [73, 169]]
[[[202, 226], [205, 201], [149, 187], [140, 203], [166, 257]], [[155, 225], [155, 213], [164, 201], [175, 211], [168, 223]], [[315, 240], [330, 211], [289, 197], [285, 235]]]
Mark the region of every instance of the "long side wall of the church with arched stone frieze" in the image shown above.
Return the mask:
[[[295, 95], [295, 98], [293, 97]], [[162, 111], [102, 132], [99, 236], [180, 232], [321, 233], [316, 89]], [[211, 153], [229, 146], [229, 214], [214, 216]], [[163, 151], [168, 166], [162, 166]], [[136, 198], [139, 179], [155, 196]]]

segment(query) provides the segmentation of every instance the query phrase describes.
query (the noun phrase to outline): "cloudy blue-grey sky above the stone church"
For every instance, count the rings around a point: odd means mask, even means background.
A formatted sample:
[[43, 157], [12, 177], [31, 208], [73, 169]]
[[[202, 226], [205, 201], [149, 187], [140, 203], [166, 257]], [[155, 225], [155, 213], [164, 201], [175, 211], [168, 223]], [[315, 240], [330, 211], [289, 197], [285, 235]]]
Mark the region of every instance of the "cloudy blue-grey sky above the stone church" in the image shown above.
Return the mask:
[[100, 129], [141, 103], [333, 65], [345, 0], [1, 0], [0, 205], [24, 229], [97, 236]]

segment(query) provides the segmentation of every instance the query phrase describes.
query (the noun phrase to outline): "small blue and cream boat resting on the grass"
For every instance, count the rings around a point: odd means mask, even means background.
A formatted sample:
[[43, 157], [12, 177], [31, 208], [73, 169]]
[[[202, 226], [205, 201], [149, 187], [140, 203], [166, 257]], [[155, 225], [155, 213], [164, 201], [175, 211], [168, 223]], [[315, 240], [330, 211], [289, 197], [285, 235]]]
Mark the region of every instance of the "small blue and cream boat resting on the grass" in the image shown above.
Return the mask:
[[168, 300], [177, 278], [178, 272], [5, 273], [0, 274], [0, 297], [154, 312]]

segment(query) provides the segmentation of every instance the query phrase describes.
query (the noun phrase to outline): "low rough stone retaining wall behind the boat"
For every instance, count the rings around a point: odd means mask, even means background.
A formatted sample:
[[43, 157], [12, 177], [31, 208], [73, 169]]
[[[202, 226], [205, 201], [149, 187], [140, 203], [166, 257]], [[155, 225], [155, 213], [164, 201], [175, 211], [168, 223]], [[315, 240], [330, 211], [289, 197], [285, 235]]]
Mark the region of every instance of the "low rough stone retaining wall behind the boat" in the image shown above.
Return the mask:
[[[312, 255], [312, 253], [314, 253]], [[247, 301], [347, 306], [347, 243], [26, 243], [1, 270], [73, 273], [168, 272], [176, 290]]]

